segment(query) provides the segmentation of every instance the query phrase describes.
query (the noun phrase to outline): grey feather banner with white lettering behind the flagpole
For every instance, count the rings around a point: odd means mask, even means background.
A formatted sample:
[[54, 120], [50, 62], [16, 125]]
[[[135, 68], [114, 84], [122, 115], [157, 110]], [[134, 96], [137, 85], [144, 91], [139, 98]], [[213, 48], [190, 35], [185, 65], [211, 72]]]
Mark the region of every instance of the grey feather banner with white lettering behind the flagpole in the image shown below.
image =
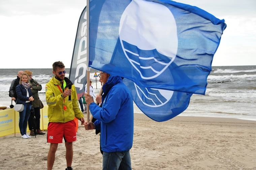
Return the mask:
[[85, 92], [85, 84], [87, 82], [87, 14], [84, 8], [76, 31], [73, 56], [70, 66], [69, 79], [74, 83], [79, 99]]

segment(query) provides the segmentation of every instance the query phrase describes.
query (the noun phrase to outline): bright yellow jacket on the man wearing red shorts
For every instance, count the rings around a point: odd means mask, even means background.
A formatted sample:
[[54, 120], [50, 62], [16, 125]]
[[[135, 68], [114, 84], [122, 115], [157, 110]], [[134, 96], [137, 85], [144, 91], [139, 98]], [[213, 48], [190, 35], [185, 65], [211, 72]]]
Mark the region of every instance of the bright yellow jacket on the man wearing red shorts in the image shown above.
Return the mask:
[[[74, 84], [67, 77], [65, 77], [64, 80], [66, 82], [66, 87], [64, 88], [62, 87], [62, 82], [57, 80], [55, 76], [45, 86], [46, 103], [49, 106], [49, 122], [66, 123], [73, 120], [74, 117], [76, 117], [78, 120], [84, 117], [78, 106], [77, 94]], [[62, 92], [57, 85], [59, 85], [59, 87], [64, 90], [68, 90], [68, 87], [71, 87], [71, 100], [68, 100], [68, 96], [64, 100]], [[66, 106], [66, 110], [64, 110], [64, 105]]]

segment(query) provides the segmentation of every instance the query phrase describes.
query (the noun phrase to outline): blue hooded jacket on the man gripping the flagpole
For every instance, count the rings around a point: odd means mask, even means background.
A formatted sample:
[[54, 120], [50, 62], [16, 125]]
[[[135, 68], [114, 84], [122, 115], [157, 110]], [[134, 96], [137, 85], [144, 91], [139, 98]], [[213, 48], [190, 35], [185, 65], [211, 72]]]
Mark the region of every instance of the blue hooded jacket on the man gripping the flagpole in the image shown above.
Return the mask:
[[95, 129], [100, 129], [100, 144], [104, 152], [128, 151], [133, 142], [133, 101], [119, 76], [109, 76], [103, 85], [102, 107], [90, 104]]

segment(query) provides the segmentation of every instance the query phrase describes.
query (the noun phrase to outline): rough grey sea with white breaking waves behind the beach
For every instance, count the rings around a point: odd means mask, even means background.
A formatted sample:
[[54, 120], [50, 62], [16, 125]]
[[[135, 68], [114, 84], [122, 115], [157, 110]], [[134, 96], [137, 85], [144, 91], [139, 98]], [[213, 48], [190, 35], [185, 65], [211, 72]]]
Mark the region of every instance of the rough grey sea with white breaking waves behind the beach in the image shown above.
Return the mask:
[[[0, 106], [11, 104], [9, 88], [19, 70], [0, 69]], [[27, 69], [42, 85], [39, 98], [45, 102], [45, 84], [52, 78], [52, 69]], [[69, 69], [66, 68], [68, 77]], [[90, 74], [95, 94], [100, 82]], [[256, 121], [256, 66], [213, 66], [207, 78], [205, 95], [193, 94], [188, 108], [178, 116], [226, 117]], [[97, 85], [97, 89], [96, 89]], [[14, 104], [14, 103], [13, 103]], [[134, 104], [134, 112], [142, 113]]]

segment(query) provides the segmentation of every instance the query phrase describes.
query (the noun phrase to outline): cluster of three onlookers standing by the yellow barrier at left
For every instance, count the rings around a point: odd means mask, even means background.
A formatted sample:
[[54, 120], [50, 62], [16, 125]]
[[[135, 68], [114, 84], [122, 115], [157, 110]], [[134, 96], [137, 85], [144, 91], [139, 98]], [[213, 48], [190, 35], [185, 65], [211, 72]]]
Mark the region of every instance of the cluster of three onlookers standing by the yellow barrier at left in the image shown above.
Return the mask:
[[[16, 104], [23, 104], [24, 109], [20, 111], [19, 128], [23, 139], [35, 135], [44, 135], [40, 130], [40, 103], [38, 91], [42, 90], [41, 84], [32, 78], [30, 70], [19, 71], [17, 78], [12, 80], [9, 96]], [[31, 113], [32, 112], [32, 113]], [[30, 135], [27, 134], [29, 125]]]

